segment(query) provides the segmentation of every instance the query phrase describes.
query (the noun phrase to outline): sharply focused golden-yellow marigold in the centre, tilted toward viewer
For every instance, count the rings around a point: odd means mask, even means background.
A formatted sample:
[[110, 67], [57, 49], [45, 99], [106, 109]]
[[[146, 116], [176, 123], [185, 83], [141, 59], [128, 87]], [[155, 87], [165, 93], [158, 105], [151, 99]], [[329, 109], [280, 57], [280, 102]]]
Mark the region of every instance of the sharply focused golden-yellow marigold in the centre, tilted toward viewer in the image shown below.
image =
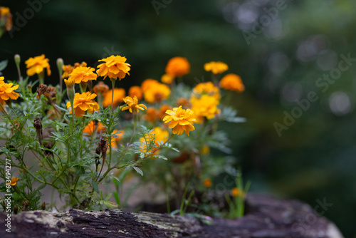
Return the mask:
[[189, 131], [195, 130], [193, 123], [195, 122], [194, 112], [190, 109], [184, 110], [182, 106], [167, 110], [163, 118], [164, 123], [169, 123], [168, 127], [173, 134], [182, 135], [185, 132], [189, 136]]

